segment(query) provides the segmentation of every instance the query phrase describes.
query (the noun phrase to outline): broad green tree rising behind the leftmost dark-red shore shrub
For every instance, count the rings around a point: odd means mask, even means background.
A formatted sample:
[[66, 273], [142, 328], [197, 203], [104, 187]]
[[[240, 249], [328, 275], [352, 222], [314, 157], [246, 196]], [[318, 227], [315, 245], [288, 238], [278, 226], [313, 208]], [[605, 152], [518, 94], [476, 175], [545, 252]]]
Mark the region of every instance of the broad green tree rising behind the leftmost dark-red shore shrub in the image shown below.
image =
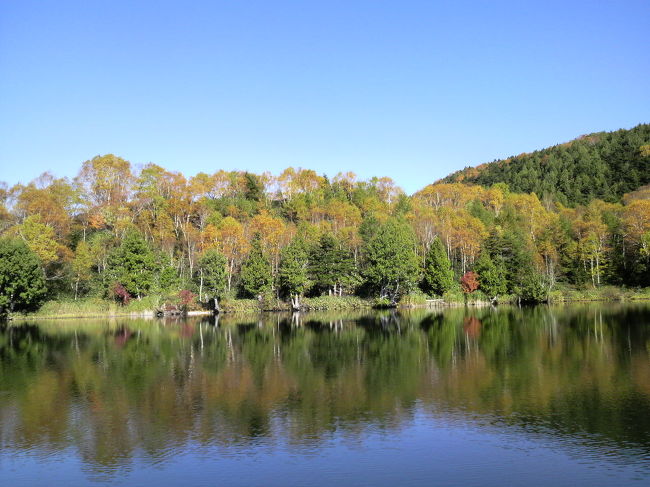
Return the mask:
[[109, 257], [110, 276], [133, 296], [145, 296], [154, 282], [156, 256], [137, 230], [126, 232], [120, 246]]

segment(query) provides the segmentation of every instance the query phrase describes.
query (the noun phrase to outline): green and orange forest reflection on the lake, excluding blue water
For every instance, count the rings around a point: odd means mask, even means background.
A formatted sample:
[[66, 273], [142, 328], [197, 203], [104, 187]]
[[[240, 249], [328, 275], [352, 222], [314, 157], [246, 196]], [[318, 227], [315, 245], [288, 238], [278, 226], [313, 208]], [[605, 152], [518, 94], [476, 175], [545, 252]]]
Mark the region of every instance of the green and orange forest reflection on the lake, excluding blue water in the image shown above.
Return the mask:
[[[335, 437], [529, 435], [650, 468], [650, 308], [42, 321], [0, 333], [0, 456], [310, 454]], [[513, 444], [516, 440], [513, 440]], [[589, 453], [593, 452], [593, 453]]]

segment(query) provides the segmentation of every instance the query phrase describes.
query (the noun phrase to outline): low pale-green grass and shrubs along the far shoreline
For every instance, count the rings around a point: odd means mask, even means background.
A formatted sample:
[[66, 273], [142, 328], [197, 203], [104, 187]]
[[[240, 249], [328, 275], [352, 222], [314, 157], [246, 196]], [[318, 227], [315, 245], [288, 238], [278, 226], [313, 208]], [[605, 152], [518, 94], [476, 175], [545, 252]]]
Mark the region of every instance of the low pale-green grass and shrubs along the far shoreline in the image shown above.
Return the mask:
[[[467, 298], [467, 299], [465, 299]], [[650, 288], [626, 289], [614, 286], [601, 288], [576, 289], [559, 287], [549, 294], [550, 303], [569, 303], [581, 301], [642, 301], [650, 300]], [[132, 300], [128, 305], [99, 298], [84, 298], [78, 300], [53, 300], [46, 302], [38, 311], [25, 314], [13, 314], [14, 319], [30, 318], [92, 318], [106, 316], [153, 316], [168, 303], [162, 296], [147, 296], [141, 300]], [[515, 296], [500, 296], [499, 304], [516, 304]], [[364, 299], [356, 296], [319, 296], [303, 298], [301, 301], [304, 311], [327, 310], [346, 311], [384, 307], [386, 303], [377, 299]], [[486, 306], [490, 300], [480, 291], [467, 296], [461, 292], [448, 293], [442, 299], [432, 299], [425, 294], [409, 294], [400, 300], [398, 307], [438, 307], [438, 306]], [[220, 302], [223, 313], [259, 313], [260, 311], [290, 311], [288, 302], [272, 299], [224, 299]], [[210, 313], [199, 304], [190, 306], [190, 314]]]

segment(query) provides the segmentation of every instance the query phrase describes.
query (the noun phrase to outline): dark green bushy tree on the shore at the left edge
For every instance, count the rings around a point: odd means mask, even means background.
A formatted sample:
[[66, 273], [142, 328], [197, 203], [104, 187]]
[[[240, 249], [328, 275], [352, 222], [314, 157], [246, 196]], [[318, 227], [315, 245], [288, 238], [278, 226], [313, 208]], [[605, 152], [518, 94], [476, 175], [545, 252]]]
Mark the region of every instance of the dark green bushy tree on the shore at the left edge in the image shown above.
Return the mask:
[[45, 294], [41, 262], [19, 240], [0, 240], [0, 315], [37, 308]]

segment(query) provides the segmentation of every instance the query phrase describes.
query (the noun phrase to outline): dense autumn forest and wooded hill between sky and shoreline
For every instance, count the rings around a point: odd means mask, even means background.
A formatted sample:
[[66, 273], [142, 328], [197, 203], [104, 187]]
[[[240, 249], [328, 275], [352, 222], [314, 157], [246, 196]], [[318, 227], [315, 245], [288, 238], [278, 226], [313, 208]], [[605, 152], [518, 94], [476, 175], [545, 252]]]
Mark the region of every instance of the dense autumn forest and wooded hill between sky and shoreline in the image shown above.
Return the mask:
[[97, 156], [74, 179], [0, 188], [0, 310], [151, 295], [542, 301], [561, 286], [648, 286], [648, 134], [589, 136], [412, 196], [353, 173], [188, 178]]

